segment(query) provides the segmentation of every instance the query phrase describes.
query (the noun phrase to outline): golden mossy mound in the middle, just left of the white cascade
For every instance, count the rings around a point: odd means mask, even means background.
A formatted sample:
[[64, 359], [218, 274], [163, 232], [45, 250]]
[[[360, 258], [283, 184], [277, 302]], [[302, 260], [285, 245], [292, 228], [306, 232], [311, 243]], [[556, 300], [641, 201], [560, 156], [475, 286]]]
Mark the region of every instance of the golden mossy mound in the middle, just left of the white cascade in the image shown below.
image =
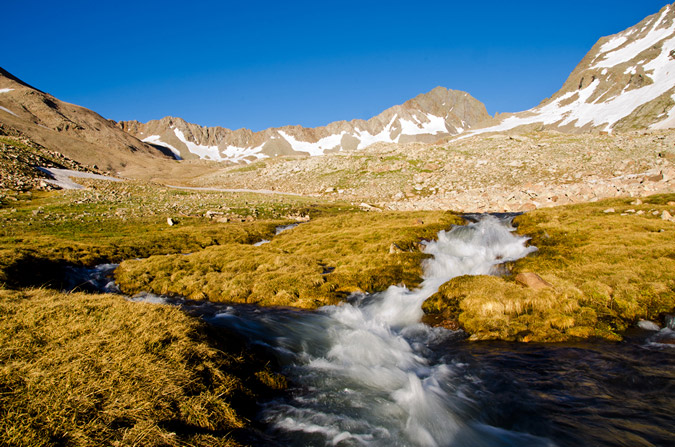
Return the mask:
[[115, 273], [129, 294], [316, 308], [354, 291], [421, 281], [422, 239], [461, 223], [444, 212], [343, 212], [280, 234], [268, 244], [221, 244], [182, 256], [123, 262]]

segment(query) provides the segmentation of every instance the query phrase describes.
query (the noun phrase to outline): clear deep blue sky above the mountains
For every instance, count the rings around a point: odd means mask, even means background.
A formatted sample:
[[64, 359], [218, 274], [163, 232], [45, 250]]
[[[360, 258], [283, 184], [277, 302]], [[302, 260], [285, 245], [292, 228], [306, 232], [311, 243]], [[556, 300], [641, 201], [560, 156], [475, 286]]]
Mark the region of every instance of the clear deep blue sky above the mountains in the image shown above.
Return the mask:
[[313, 127], [438, 85], [516, 112], [667, 3], [5, 0], [0, 66], [118, 121]]

